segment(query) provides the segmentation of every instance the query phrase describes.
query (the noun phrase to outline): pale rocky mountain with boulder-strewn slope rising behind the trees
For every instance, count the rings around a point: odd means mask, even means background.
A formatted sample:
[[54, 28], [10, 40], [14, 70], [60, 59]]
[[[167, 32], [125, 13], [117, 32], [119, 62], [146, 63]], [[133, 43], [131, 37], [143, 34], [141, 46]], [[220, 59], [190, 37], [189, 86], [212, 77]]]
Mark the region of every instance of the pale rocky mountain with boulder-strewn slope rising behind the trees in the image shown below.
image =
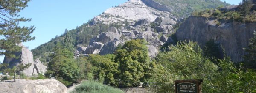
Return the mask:
[[[125, 41], [142, 38], [148, 42], [150, 57], [155, 57], [159, 47], [166, 42], [174, 41], [168, 37], [174, 33], [176, 23], [183, 21], [183, 16], [173, 14], [181, 7], [172, 4], [166, 5], [163, 3], [165, 1], [128, 0], [124, 4], [107, 9], [86, 24], [70, 30], [73, 45], [77, 48], [77, 51], [74, 52], [76, 57], [79, 55], [88, 56], [88, 54], [113, 53], [113, 50], [124, 44]], [[198, 2], [198, 0], [189, 0], [189, 3], [194, 2]], [[186, 11], [198, 10], [192, 9], [198, 8], [198, 6], [203, 10], [216, 8], [218, 5], [227, 5], [219, 0], [212, 0], [211, 2], [200, 0], [200, 2], [207, 3], [209, 6], [205, 7], [198, 3], [191, 6], [184, 1], [179, 2], [179, 4], [190, 8]], [[41, 57], [43, 63], [49, 61], [47, 60], [49, 57], [45, 56], [44, 53], [52, 52], [57, 41], [64, 41], [65, 34], [33, 49], [32, 52], [35, 57]]]

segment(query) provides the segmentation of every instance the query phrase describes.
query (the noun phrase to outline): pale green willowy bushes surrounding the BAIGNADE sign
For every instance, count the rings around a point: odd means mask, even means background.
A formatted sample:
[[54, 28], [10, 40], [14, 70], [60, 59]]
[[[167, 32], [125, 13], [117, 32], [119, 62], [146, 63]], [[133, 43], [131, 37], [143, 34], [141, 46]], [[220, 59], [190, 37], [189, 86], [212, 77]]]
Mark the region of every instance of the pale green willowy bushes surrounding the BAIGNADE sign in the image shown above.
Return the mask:
[[256, 92], [256, 72], [234, 66], [230, 58], [214, 64], [204, 57], [197, 43], [179, 42], [168, 52], [157, 55], [157, 67], [152, 73], [151, 88], [157, 93], [174, 92], [174, 80], [203, 79], [205, 93]]

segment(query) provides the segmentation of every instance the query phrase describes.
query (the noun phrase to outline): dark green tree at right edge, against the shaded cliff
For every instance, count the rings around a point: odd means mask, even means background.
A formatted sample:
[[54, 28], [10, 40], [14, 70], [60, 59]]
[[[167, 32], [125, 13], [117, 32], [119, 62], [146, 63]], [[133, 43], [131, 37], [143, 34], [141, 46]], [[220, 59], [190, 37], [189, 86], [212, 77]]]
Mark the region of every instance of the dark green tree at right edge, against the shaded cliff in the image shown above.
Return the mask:
[[244, 56], [245, 66], [247, 68], [256, 69], [256, 32], [254, 31], [254, 37], [250, 38], [250, 42], [248, 44], [248, 48], [244, 49], [248, 52], [247, 55]]

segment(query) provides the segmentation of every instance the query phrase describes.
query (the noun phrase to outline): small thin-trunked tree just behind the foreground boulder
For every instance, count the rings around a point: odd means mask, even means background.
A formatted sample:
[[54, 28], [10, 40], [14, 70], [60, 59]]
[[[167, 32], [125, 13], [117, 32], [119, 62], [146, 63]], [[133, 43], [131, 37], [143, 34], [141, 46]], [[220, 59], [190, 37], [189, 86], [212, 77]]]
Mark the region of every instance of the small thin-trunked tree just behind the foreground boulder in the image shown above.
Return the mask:
[[13, 77], [13, 82], [15, 82], [15, 75], [17, 72], [19, 71], [23, 71], [25, 70], [26, 68], [29, 68], [29, 66], [31, 66], [32, 63], [28, 63], [28, 64], [23, 64], [21, 63], [20, 65], [18, 65], [17, 67], [16, 66], [13, 66], [12, 68], [7, 68], [5, 69], [6, 72], [10, 72], [10, 73], [14, 73], [14, 77]]

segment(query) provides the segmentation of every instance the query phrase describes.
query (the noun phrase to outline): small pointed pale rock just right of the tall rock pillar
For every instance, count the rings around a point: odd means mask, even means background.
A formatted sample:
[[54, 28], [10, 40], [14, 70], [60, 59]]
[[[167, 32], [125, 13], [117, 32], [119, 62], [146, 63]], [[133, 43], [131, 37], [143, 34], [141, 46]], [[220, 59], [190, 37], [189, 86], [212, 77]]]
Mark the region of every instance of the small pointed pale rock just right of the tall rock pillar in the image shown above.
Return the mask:
[[34, 61], [34, 73], [44, 74], [47, 71], [47, 66], [44, 66], [39, 58]]

